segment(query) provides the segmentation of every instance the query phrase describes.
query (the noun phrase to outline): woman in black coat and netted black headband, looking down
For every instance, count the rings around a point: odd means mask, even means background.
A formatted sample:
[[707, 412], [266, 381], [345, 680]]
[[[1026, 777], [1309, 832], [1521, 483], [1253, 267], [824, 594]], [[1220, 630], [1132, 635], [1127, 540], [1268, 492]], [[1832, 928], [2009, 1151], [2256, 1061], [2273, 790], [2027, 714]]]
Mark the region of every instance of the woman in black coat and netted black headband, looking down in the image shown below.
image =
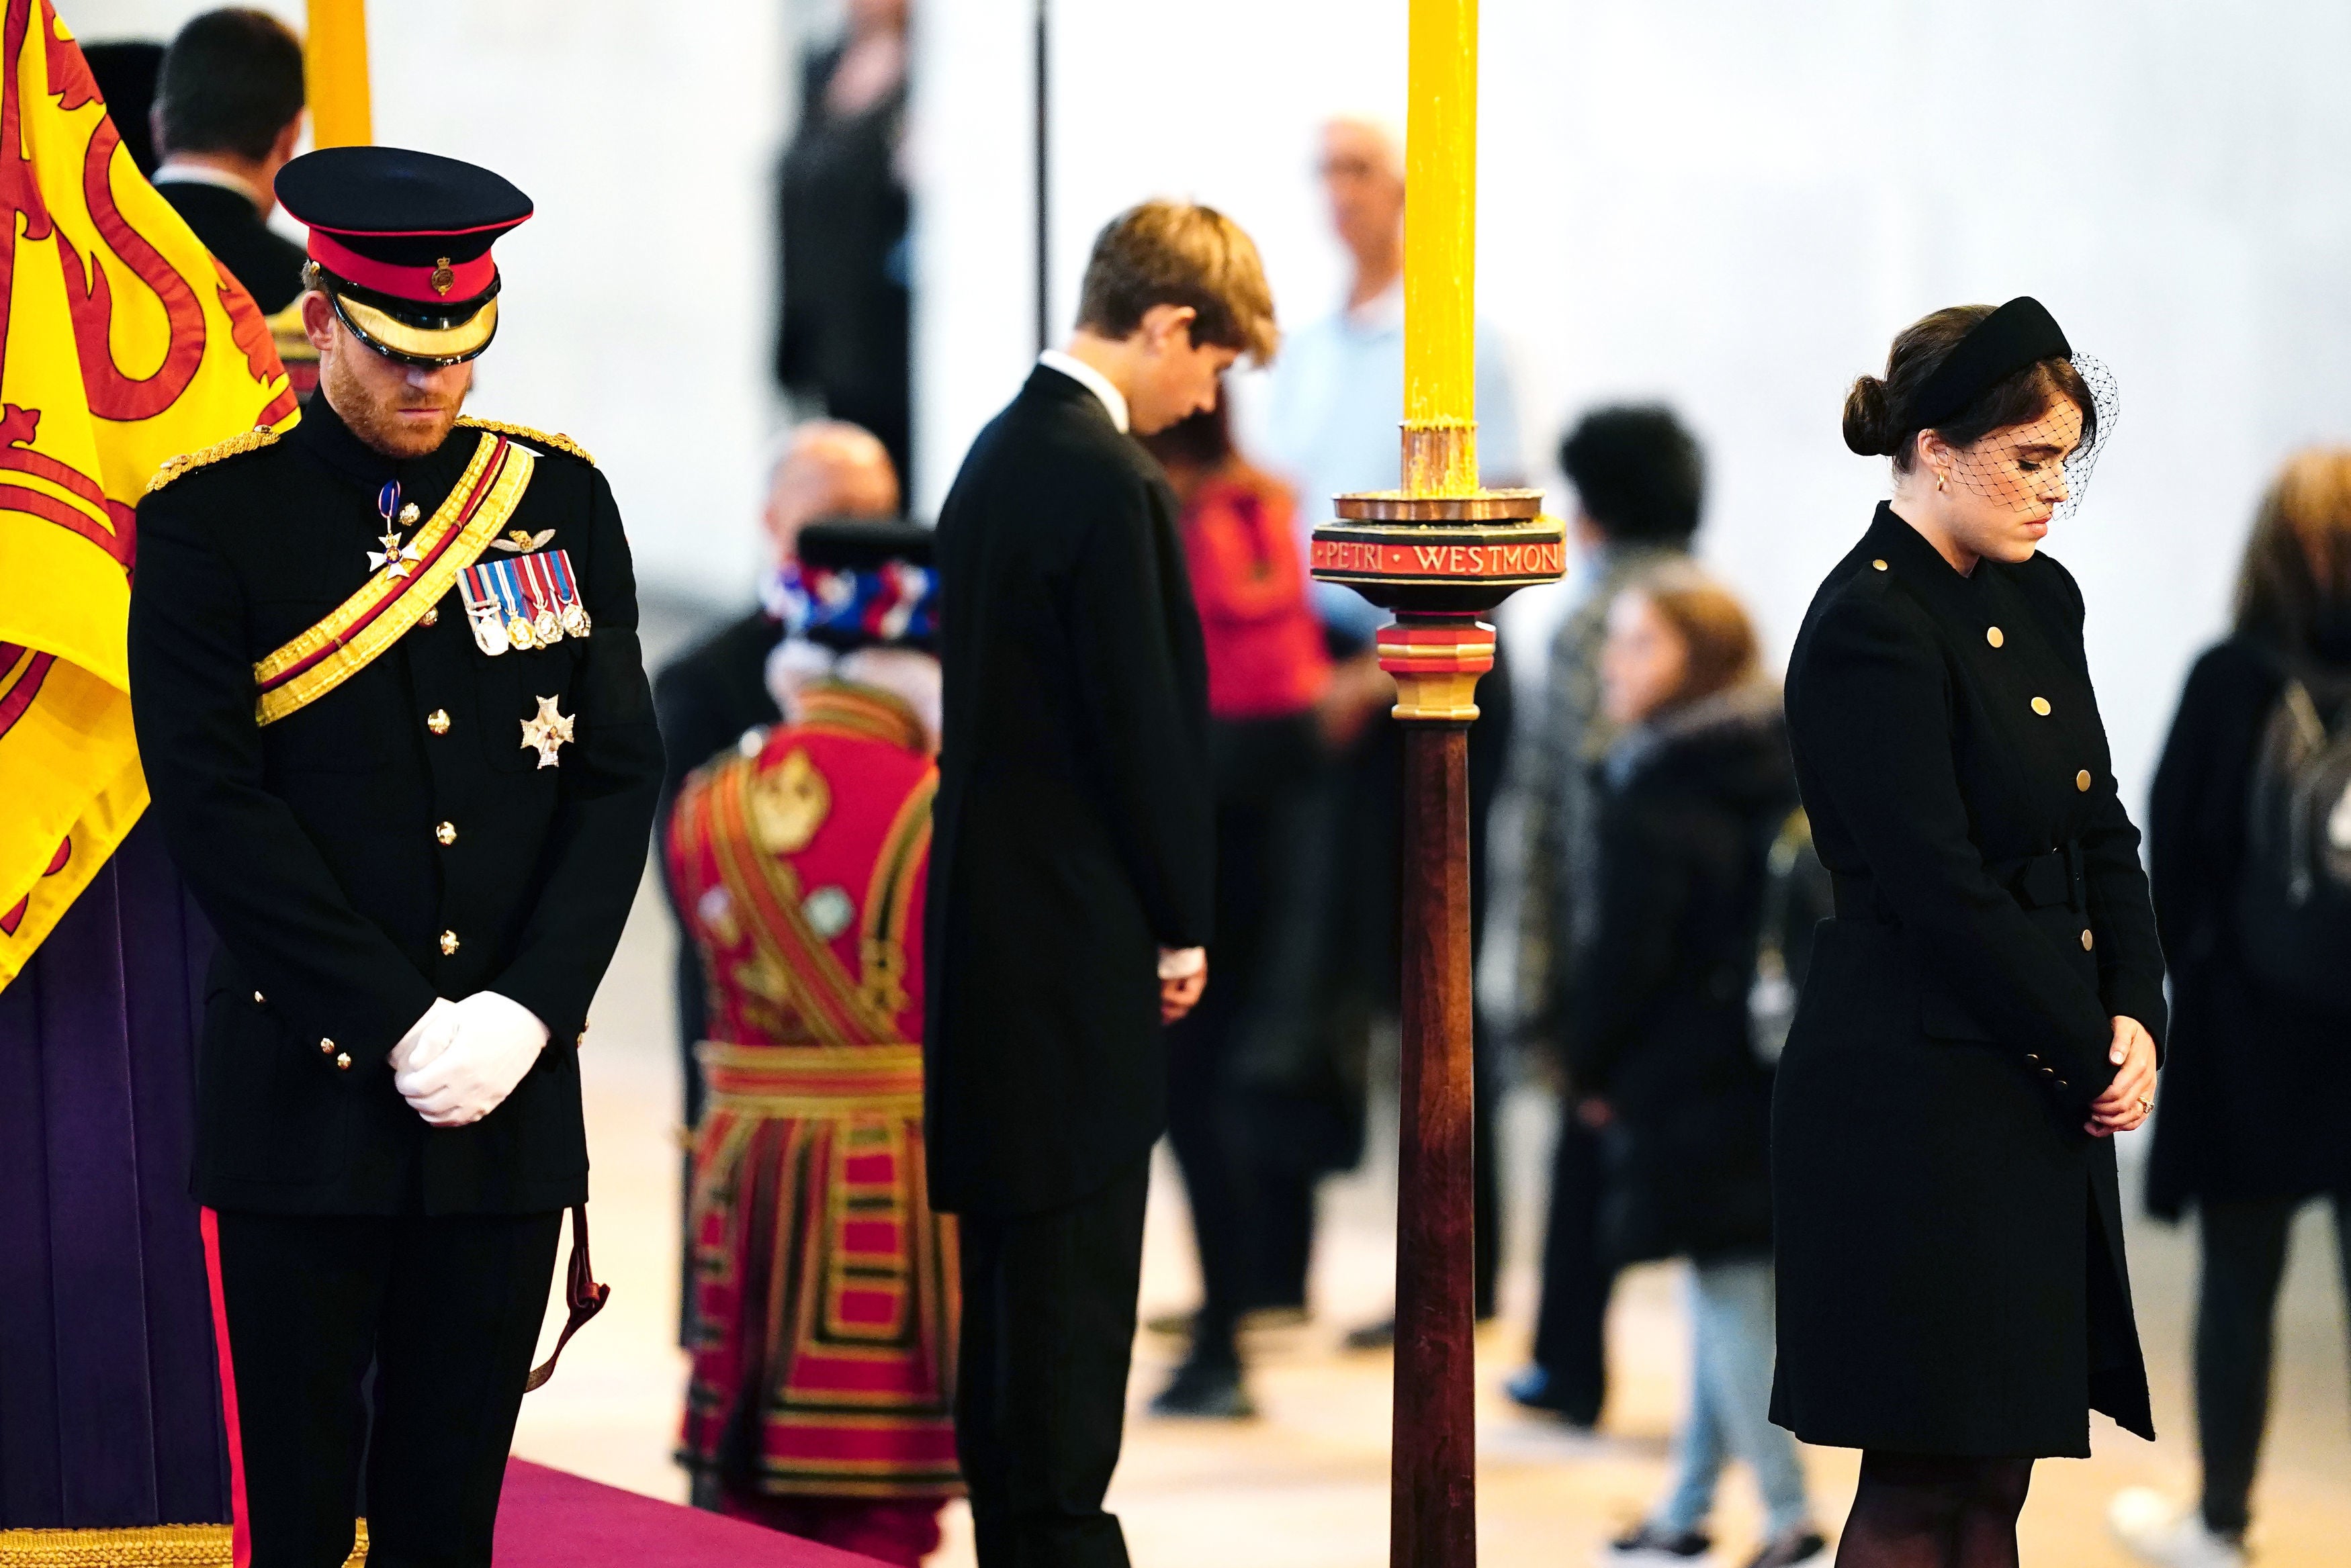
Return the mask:
[[1789, 658], [1836, 919], [1773, 1086], [1770, 1413], [1862, 1450], [1841, 1568], [2015, 1568], [2036, 1458], [2088, 1458], [2090, 1410], [2154, 1439], [2114, 1133], [2163, 947], [2041, 552], [2111, 430], [2092, 374], [2034, 299], [1904, 327], [1843, 411], [1893, 498]]

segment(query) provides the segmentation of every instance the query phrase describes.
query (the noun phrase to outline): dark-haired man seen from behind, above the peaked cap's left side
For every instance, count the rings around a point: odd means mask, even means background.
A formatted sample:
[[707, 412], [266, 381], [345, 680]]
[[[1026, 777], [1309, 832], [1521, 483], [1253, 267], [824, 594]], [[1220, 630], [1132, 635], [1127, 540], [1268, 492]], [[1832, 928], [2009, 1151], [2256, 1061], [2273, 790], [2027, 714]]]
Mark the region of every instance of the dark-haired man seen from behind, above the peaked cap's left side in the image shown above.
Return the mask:
[[301, 40], [268, 12], [188, 21], [165, 49], [148, 122], [155, 190], [263, 315], [301, 294], [303, 247], [268, 226], [277, 169], [301, 139]]

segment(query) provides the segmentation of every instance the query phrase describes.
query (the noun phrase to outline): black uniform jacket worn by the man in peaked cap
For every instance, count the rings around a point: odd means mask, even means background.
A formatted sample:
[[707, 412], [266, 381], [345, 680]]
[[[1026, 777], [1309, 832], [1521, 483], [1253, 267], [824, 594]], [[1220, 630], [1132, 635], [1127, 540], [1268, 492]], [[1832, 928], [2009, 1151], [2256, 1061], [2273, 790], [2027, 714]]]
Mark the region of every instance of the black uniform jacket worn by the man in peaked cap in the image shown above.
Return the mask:
[[[510, 520], [555, 529], [590, 637], [484, 656], [451, 590], [433, 625], [341, 686], [266, 729], [254, 719], [254, 663], [367, 581], [383, 480], [430, 517], [480, 440], [458, 425], [435, 454], [393, 463], [313, 397], [275, 444], [139, 505], [139, 752], [172, 856], [221, 933], [195, 1152], [195, 1194], [216, 1208], [529, 1213], [588, 1194], [576, 1046], [661, 783], [604, 475], [548, 449]], [[574, 741], [541, 769], [520, 736], [548, 696]], [[393, 1091], [386, 1051], [435, 997], [477, 990], [531, 1009], [550, 1044], [489, 1117], [428, 1128]]]

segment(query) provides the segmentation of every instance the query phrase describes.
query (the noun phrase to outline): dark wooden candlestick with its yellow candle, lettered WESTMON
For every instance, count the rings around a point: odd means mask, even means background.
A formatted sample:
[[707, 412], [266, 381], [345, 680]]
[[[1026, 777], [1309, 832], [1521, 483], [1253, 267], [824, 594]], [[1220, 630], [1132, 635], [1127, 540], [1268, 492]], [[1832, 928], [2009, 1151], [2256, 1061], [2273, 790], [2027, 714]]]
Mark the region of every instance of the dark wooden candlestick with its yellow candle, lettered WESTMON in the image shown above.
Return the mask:
[[1531, 489], [1476, 468], [1476, 0], [1413, 0], [1404, 136], [1401, 489], [1335, 496], [1314, 576], [1396, 611], [1404, 724], [1404, 1074], [1396, 1168], [1392, 1568], [1476, 1563], [1469, 722], [1479, 616], [1566, 569]]

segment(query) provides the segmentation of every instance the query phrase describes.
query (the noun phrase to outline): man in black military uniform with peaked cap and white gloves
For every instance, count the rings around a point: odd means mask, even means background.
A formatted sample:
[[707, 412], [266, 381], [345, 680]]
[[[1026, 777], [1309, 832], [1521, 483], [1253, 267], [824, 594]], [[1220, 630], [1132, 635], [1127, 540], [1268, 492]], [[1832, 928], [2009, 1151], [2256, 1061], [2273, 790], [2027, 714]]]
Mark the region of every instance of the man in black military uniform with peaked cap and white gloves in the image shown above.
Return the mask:
[[[369, 1561], [487, 1566], [661, 741], [604, 475], [458, 416], [529, 197], [395, 148], [277, 197], [320, 393], [158, 475], [129, 625], [155, 816], [221, 933], [195, 1194], [237, 1521], [254, 1568], [341, 1563], [364, 1448]], [[585, 1281], [576, 1251], [574, 1321]]]

